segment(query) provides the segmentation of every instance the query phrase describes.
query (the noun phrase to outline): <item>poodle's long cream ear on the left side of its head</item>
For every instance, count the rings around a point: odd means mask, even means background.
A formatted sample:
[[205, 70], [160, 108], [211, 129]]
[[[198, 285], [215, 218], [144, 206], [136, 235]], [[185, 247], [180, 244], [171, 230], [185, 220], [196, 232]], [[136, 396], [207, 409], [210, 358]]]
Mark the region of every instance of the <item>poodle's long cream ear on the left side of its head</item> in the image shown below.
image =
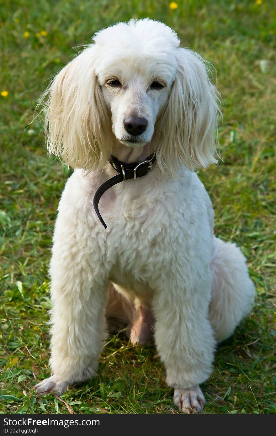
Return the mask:
[[48, 152], [85, 170], [106, 164], [111, 143], [94, 62], [94, 47], [89, 46], [59, 72], [41, 99], [46, 101]]

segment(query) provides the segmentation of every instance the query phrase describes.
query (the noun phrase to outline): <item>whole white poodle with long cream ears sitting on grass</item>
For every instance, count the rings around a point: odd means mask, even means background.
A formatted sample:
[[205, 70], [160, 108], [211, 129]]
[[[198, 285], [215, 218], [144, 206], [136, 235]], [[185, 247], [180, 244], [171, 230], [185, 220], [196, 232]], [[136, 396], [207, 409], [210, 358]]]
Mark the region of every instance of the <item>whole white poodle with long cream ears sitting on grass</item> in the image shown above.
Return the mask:
[[252, 308], [246, 260], [214, 236], [194, 172], [217, 163], [219, 95], [208, 63], [179, 44], [155, 20], [115, 24], [42, 96], [48, 151], [75, 170], [55, 224], [40, 395], [95, 375], [108, 319], [133, 344], [154, 335], [174, 403], [200, 412], [216, 344]]

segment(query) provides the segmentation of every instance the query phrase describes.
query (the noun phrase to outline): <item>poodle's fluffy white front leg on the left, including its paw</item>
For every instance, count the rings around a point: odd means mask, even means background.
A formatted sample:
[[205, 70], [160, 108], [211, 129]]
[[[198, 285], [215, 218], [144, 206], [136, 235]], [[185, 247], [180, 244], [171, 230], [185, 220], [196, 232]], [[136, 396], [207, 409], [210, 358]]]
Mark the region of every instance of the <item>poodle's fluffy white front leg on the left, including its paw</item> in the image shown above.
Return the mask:
[[[62, 233], [62, 232], [61, 232]], [[105, 335], [108, 279], [82, 238], [55, 235], [51, 259], [51, 359], [53, 375], [38, 383], [38, 394], [61, 394], [68, 385], [95, 374]], [[62, 242], [61, 242], [62, 241]]]

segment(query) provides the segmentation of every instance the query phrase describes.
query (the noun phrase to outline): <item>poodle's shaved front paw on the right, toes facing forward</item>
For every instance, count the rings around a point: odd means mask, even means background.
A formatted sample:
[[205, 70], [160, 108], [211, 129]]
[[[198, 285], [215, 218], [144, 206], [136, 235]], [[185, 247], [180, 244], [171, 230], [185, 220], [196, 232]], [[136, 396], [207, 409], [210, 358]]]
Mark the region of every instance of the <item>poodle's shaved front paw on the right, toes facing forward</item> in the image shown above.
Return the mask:
[[199, 386], [189, 389], [174, 389], [174, 404], [180, 412], [201, 412], [205, 403], [204, 395]]

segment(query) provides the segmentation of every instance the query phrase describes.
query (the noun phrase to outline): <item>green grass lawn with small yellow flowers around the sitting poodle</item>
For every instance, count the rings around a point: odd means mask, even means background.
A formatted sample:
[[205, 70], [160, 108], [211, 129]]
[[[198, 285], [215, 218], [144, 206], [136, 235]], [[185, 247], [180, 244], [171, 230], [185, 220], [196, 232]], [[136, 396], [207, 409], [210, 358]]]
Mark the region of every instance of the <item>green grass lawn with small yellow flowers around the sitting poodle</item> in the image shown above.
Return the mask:
[[[132, 17], [164, 21], [217, 68], [222, 161], [199, 175], [216, 234], [242, 248], [257, 288], [251, 315], [218, 347], [202, 385], [203, 413], [276, 412], [276, 10], [269, 0], [177, 3], [176, 10], [164, 0], [1, 3], [1, 413], [68, 413], [53, 395], [33, 392], [50, 374], [47, 270], [68, 177], [47, 157], [39, 121], [31, 122], [35, 105], [78, 46]], [[109, 337], [96, 377], [62, 399], [74, 413], [177, 413], [172, 396], [155, 348], [133, 347], [121, 333]]]

